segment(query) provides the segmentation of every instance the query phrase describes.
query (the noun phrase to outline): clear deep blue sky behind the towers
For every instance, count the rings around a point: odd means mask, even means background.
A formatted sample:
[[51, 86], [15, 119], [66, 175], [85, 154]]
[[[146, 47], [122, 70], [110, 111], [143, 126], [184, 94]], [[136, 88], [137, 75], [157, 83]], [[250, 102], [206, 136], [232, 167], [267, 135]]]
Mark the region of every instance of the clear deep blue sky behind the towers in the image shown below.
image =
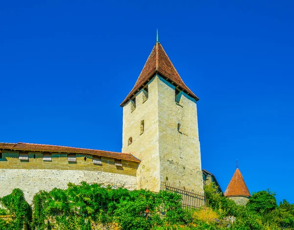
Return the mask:
[[159, 39], [198, 101], [202, 167], [294, 203], [294, 2], [1, 1], [0, 142], [121, 151]]

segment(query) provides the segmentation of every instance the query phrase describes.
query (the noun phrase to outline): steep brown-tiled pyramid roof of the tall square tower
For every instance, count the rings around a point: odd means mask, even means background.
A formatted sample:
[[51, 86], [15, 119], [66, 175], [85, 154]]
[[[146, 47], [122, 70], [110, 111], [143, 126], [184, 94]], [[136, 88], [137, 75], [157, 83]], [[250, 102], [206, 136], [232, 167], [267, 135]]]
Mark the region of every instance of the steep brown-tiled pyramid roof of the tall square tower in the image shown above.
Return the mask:
[[127, 97], [123, 100], [121, 106], [123, 106], [129, 99], [135, 94], [140, 87], [147, 82], [147, 80], [152, 77], [155, 73], [159, 73], [164, 77], [170, 79], [174, 84], [179, 86], [184, 92], [188, 93], [190, 96], [199, 100], [199, 98], [185, 85], [182, 78], [172, 65], [170, 58], [167, 53], [161, 46], [159, 42], [155, 44], [153, 47], [147, 62], [145, 63], [144, 68], [142, 69], [138, 80], [131, 90], [131, 92], [127, 95]]

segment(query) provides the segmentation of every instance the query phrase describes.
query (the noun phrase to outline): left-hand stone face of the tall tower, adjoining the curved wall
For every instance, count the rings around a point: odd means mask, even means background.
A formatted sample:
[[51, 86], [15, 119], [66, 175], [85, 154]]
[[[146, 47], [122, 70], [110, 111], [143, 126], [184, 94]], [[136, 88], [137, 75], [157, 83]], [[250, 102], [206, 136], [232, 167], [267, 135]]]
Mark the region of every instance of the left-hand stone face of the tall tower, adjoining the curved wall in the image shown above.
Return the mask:
[[[159, 146], [158, 146], [158, 78], [148, 83], [148, 99], [144, 93], [136, 96], [136, 109], [131, 111], [131, 102], [123, 107], [123, 149], [141, 160], [137, 170], [138, 188], [160, 190]], [[144, 133], [140, 125], [144, 120]], [[133, 142], [128, 144], [128, 138]]]

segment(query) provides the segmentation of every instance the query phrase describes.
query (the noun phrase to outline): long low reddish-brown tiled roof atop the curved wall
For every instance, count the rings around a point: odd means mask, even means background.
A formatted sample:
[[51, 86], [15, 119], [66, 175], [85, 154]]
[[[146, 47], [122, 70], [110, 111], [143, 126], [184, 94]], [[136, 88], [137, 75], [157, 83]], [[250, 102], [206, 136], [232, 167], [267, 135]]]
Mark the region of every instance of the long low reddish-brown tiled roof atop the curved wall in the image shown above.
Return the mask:
[[117, 153], [95, 149], [74, 148], [67, 146], [49, 145], [49, 144], [30, 144], [30, 143], [1, 143], [0, 149], [22, 150], [22, 151], [38, 151], [38, 152], [57, 152], [57, 153], [80, 153], [96, 155], [100, 157], [109, 157], [125, 161], [140, 162], [139, 159], [130, 153]]

